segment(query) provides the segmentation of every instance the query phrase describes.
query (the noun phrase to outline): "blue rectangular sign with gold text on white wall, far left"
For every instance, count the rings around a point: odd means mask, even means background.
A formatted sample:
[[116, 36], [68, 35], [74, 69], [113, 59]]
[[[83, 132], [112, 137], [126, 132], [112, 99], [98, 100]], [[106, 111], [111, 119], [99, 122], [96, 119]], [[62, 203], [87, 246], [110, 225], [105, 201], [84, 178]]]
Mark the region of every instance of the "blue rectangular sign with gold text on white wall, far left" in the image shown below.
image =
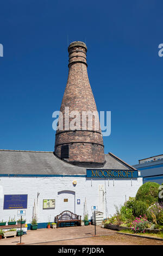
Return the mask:
[[28, 194], [4, 194], [3, 209], [27, 209]]

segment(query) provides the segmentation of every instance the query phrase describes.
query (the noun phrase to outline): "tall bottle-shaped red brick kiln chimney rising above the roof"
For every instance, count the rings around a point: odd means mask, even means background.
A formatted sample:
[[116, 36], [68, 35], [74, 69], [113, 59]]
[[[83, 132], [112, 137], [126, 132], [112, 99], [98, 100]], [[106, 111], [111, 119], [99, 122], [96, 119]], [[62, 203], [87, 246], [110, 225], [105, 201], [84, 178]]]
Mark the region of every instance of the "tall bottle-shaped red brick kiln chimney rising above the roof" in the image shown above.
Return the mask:
[[[105, 158], [100, 125], [98, 130], [95, 129], [95, 119], [93, 118], [92, 129], [89, 130], [88, 119], [86, 119], [86, 129], [82, 129], [83, 111], [97, 111], [87, 75], [86, 51], [86, 45], [80, 41], [74, 41], [68, 47], [69, 72], [60, 111], [64, 118], [66, 117], [65, 107], [69, 107], [69, 113], [78, 111], [80, 123], [73, 131], [69, 127], [67, 129], [65, 122], [63, 129], [57, 130], [54, 154], [73, 164], [101, 166], [104, 164]], [[74, 118], [76, 115], [73, 118], [70, 117], [68, 124]]]

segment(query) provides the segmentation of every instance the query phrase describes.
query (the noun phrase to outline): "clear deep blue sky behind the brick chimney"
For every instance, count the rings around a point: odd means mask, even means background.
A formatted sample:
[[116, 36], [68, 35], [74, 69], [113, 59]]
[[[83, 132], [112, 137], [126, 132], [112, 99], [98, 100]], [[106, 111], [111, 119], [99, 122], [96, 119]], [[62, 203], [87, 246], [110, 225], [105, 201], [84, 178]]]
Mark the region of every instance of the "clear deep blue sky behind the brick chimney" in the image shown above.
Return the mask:
[[0, 148], [53, 151], [69, 43], [85, 41], [98, 111], [111, 111], [105, 153], [130, 164], [162, 154], [163, 2], [1, 1]]

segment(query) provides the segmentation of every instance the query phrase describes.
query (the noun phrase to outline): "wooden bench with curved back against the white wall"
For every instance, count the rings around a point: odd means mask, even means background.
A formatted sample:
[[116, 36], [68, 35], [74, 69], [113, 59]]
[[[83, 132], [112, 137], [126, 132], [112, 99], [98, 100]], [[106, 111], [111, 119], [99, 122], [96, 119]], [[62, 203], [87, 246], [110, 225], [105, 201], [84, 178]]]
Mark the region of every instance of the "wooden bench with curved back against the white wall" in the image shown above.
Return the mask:
[[66, 222], [78, 222], [81, 226], [81, 217], [80, 215], [73, 214], [71, 211], [62, 211], [61, 214], [55, 217], [55, 222], [57, 223], [57, 228], [60, 223]]

